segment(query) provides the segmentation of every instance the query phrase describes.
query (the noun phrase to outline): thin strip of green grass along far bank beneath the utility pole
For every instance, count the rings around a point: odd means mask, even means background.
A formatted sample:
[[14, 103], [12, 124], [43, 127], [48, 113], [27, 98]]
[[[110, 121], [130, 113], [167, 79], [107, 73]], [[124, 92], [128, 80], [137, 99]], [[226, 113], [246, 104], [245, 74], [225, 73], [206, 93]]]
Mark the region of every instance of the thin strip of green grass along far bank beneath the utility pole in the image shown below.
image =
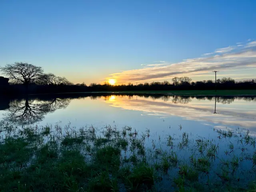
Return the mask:
[[[98, 92], [99, 93], [99, 92]], [[100, 92], [109, 93], [109, 92]], [[113, 91], [113, 93], [130, 93], [130, 94], [146, 94], [146, 93], [158, 93], [158, 94], [173, 94], [173, 95], [217, 95], [217, 96], [239, 96], [239, 95], [251, 95], [256, 96], [256, 90], [176, 90], [176, 91]]]

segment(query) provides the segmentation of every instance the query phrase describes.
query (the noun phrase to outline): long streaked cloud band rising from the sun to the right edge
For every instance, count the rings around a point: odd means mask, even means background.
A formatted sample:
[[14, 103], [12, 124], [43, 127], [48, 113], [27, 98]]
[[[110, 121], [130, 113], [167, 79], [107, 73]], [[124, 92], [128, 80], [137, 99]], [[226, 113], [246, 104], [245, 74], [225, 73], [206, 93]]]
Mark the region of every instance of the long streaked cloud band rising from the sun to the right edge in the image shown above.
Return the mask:
[[[238, 44], [240, 45], [240, 43]], [[143, 68], [110, 74], [119, 84], [128, 82], [152, 82], [171, 79], [174, 76], [200, 76], [213, 70], [230, 71], [256, 67], [256, 42], [246, 46], [229, 46], [204, 54], [202, 58], [191, 58], [177, 63], [159, 62], [146, 64]]]

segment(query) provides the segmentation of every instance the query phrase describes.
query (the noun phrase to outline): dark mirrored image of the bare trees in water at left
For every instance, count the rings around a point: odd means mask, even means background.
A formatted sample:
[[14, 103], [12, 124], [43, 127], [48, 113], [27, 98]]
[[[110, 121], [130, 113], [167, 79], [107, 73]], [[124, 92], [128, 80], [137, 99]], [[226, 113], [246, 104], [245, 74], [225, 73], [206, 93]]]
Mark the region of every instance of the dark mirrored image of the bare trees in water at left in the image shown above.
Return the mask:
[[46, 114], [66, 108], [69, 103], [70, 99], [68, 98], [14, 100], [10, 102], [10, 108], [4, 114], [4, 120], [19, 125], [34, 124], [42, 121]]

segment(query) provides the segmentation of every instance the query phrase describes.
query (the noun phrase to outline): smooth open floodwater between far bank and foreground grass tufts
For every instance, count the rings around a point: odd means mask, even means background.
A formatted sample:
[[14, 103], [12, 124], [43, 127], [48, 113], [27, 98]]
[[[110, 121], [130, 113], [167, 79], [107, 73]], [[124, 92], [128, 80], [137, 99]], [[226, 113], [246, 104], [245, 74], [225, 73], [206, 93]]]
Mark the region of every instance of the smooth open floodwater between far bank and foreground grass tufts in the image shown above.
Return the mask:
[[256, 133], [256, 98], [161, 94], [66, 94], [1, 99], [0, 120], [18, 125], [131, 126], [144, 132], [182, 130], [207, 137], [215, 129]]

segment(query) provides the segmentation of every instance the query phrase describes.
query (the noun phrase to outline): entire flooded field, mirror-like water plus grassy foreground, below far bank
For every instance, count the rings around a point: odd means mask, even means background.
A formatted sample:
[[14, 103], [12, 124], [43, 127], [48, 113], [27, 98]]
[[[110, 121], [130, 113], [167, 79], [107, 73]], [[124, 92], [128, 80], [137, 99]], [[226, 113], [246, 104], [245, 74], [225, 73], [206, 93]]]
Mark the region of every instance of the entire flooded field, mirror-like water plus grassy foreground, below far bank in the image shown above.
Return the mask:
[[29, 191], [51, 178], [50, 189], [65, 174], [52, 190], [255, 190], [255, 107], [254, 97], [5, 99], [1, 174], [15, 178], [0, 185]]

